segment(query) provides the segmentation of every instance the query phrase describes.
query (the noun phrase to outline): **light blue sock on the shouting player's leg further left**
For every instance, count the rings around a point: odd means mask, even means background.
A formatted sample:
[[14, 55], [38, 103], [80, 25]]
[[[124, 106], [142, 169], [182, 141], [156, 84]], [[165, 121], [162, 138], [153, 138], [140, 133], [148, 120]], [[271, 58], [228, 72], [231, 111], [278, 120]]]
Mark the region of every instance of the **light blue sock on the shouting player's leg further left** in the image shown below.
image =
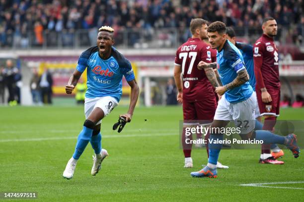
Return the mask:
[[92, 137], [92, 132], [92, 129], [83, 126], [82, 131], [78, 135], [75, 152], [73, 154], [74, 159], [79, 159], [80, 155]]

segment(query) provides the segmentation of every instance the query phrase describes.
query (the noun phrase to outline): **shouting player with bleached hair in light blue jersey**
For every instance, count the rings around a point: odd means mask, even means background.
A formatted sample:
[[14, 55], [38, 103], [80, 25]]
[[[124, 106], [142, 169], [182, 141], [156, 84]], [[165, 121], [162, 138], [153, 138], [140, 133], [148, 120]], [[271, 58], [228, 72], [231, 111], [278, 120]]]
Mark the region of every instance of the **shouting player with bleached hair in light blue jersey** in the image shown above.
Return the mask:
[[122, 96], [123, 76], [131, 87], [129, 110], [127, 113], [120, 115], [126, 122], [131, 121], [139, 96], [139, 87], [131, 63], [112, 47], [114, 45], [114, 29], [103, 26], [98, 31], [97, 46], [82, 52], [76, 70], [66, 86], [66, 93], [72, 94], [82, 72], [87, 69], [87, 91], [84, 103], [86, 120], [78, 135], [75, 152], [63, 173], [63, 177], [67, 179], [73, 178], [77, 160], [88, 142], [90, 142], [95, 152], [91, 169], [92, 175], [98, 173], [101, 162], [108, 156], [108, 152], [101, 149], [101, 119], [118, 105]]

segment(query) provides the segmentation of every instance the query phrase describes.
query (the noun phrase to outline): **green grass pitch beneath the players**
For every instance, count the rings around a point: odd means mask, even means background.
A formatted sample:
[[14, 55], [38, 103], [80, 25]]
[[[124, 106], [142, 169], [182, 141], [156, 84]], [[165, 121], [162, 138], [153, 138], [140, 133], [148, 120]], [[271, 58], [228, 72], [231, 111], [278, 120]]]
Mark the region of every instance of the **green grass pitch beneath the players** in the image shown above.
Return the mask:
[[[229, 169], [218, 170], [216, 179], [192, 178], [190, 172], [206, 164], [207, 154], [194, 150], [194, 168], [183, 168], [181, 107], [137, 107], [122, 133], [112, 131], [118, 115], [126, 111], [118, 106], [103, 120], [102, 147], [110, 155], [102, 170], [90, 175], [93, 150], [88, 145], [74, 178], [66, 180], [62, 173], [82, 128], [83, 106], [0, 107], [0, 192], [37, 192], [33, 201], [52, 202], [304, 199], [303, 155], [296, 159], [285, 150], [284, 165], [269, 165], [258, 163], [259, 150], [223, 150], [219, 160]], [[282, 109], [280, 119], [303, 120], [304, 109]], [[240, 186], [270, 182], [302, 183]]]

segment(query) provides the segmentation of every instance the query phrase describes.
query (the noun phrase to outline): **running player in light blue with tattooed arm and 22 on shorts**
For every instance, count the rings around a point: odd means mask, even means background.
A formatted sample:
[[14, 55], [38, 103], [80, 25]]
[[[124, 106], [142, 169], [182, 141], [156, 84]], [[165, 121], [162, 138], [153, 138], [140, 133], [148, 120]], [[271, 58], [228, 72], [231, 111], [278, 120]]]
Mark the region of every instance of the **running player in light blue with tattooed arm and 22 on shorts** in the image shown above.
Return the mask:
[[[217, 49], [218, 71], [223, 86], [216, 88], [216, 93], [224, 95], [219, 101], [211, 131], [226, 127], [230, 120], [240, 128], [243, 139], [262, 140], [266, 144], [282, 144], [292, 151], [294, 157], [299, 156], [295, 134], [286, 137], [275, 135], [270, 131], [257, 130], [255, 127], [256, 97], [249, 84], [249, 76], [240, 51], [226, 39], [226, 25], [223, 22], [211, 23], [208, 27], [208, 38], [213, 49]], [[216, 66], [217, 63], [201, 61], [199, 69]], [[221, 130], [220, 130], [221, 131]], [[208, 164], [202, 170], [191, 172], [193, 177], [217, 177], [217, 161], [222, 148], [221, 140], [224, 134], [213, 132], [210, 134]]]

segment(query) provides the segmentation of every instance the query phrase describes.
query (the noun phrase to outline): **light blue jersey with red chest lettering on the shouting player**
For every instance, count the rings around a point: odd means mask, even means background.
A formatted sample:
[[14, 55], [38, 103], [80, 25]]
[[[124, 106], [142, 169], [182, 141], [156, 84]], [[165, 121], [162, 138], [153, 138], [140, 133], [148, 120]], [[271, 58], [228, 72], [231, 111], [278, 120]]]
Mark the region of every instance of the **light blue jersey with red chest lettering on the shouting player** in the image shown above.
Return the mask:
[[127, 81], [135, 79], [131, 63], [115, 48], [107, 60], [101, 59], [98, 47], [91, 47], [81, 53], [76, 69], [87, 68], [86, 98], [111, 96], [118, 102], [122, 95], [122, 77]]

